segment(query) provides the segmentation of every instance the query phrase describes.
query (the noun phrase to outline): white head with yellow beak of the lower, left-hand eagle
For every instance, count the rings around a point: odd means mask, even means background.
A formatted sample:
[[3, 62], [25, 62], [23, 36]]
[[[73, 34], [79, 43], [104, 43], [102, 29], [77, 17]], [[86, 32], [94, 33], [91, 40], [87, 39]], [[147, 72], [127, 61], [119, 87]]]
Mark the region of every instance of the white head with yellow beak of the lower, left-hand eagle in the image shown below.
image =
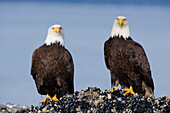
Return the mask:
[[47, 38], [45, 40], [46, 45], [51, 45], [54, 43], [60, 43], [64, 46], [64, 31], [61, 25], [53, 25], [48, 29]]

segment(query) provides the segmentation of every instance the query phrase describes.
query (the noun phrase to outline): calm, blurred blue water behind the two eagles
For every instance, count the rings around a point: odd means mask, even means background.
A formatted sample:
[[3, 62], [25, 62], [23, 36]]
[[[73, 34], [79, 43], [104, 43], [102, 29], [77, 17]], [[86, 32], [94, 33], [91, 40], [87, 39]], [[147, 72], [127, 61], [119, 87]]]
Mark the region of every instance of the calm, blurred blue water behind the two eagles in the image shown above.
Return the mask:
[[38, 94], [30, 75], [31, 57], [53, 24], [64, 28], [65, 45], [75, 64], [75, 90], [111, 89], [103, 48], [119, 15], [127, 17], [131, 37], [147, 53], [155, 96], [170, 96], [170, 5], [169, 0], [152, 1], [0, 1], [0, 104], [38, 105], [45, 97]]

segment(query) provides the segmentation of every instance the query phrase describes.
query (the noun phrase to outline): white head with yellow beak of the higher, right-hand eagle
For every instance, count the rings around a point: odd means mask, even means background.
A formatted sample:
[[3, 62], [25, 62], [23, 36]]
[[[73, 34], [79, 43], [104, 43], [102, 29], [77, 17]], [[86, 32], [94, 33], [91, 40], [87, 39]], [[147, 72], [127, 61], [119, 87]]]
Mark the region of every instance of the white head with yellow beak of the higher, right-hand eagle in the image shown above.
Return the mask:
[[129, 24], [124, 16], [118, 16], [113, 22], [111, 37], [122, 36], [124, 39], [130, 37]]

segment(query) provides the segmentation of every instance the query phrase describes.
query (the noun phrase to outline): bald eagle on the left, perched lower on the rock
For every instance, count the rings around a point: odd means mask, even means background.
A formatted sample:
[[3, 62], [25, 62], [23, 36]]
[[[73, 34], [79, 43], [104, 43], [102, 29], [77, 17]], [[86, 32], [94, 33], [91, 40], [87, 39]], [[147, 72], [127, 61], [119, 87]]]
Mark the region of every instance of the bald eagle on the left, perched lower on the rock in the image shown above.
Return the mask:
[[74, 92], [74, 64], [69, 51], [64, 46], [64, 33], [61, 25], [48, 29], [45, 44], [32, 55], [31, 75], [39, 94], [56, 101], [66, 93]]

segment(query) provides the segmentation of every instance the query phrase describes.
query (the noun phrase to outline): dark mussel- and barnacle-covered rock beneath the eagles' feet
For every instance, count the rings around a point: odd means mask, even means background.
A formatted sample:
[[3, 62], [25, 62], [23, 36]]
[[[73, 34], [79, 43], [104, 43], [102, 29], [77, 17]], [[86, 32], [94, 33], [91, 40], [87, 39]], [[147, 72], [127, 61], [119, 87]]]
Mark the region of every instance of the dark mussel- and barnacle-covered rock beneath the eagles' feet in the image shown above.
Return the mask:
[[170, 113], [170, 98], [152, 99], [137, 93], [125, 95], [122, 90], [106, 92], [99, 88], [88, 88], [40, 106], [0, 105], [0, 112]]

